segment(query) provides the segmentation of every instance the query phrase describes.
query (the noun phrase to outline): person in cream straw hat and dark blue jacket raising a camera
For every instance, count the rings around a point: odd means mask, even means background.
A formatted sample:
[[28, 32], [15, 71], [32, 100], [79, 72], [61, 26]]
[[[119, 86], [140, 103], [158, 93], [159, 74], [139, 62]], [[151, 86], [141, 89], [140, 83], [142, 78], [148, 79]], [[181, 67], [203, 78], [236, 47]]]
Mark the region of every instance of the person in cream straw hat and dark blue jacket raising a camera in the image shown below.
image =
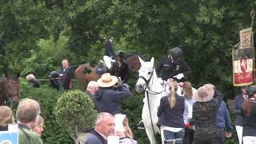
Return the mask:
[[102, 74], [97, 81], [98, 90], [94, 95], [94, 105], [99, 113], [121, 114], [118, 102], [130, 97], [127, 84], [110, 73]]

